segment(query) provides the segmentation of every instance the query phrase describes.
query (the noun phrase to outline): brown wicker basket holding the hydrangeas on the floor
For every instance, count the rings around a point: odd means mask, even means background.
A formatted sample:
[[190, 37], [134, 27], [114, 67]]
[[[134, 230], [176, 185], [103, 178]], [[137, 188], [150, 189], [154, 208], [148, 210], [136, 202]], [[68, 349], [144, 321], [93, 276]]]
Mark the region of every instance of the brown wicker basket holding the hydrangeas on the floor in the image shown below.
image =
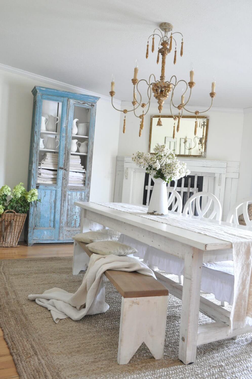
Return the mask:
[[17, 246], [25, 219], [26, 213], [16, 213], [12, 210], [3, 212], [0, 218], [0, 247]]

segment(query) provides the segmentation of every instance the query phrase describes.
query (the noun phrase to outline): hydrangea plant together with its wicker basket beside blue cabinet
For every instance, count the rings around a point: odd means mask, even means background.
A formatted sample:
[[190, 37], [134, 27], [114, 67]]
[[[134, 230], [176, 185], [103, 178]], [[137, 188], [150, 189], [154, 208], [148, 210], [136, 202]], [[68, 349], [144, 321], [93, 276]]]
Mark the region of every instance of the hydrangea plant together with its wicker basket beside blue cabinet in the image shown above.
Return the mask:
[[0, 247], [17, 246], [30, 203], [37, 201], [38, 190], [27, 192], [24, 183], [17, 184], [12, 192], [7, 185], [0, 188]]

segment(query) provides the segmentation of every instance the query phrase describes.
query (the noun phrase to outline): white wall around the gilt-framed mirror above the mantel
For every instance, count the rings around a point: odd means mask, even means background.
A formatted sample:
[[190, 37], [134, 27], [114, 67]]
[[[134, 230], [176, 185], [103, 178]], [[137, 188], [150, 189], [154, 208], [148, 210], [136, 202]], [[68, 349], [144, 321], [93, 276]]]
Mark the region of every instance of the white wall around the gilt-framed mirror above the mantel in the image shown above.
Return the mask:
[[[131, 103], [122, 102], [121, 109], [132, 109], [132, 105], [129, 107], [129, 104]], [[189, 107], [188, 109], [191, 110]], [[195, 110], [196, 107], [193, 109]], [[201, 107], [198, 110], [202, 111]], [[141, 111], [137, 114], [140, 114], [140, 112]], [[149, 112], [145, 116], [141, 137], [138, 136], [140, 119], [137, 119], [133, 112], [126, 114], [126, 132], [123, 135], [122, 129], [124, 115], [121, 115], [118, 155], [129, 156], [137, 150], [148, 151], [150, 116], [157, 114], [157, 104], [153, 102], [150, 106]], [[163, 109], [162, 114], [170, 114], [170, 109], [166, 106]], [[243, 110], [212, 108], [203, 114], [209, 116], [206, 159], [239, 161], [243, 133]], [[184, 115], [186, 115], [186, 113], [184, 113]], [[183, 122], [183, 119], [181, 119], [181, 122]]]

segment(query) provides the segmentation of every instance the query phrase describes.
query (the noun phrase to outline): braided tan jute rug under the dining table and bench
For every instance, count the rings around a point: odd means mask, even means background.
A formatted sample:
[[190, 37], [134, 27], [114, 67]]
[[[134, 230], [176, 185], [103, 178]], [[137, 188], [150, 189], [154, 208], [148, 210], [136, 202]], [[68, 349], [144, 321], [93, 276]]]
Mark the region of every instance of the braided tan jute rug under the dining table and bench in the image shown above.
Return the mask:
[[[197, 360], [178, 360], [181, 301], [169, 296], [164, 359], [142, 345], [128, 365], [117, 364], [121, 297], [105, 279], [110, 309], [80, 321], [55, 324], [50, 312], [27, 299], [52, 287], [74, 292], [83, 273], [72, 276], [72, 258], [0, 261], [0, 326], [21, 378], [251, 378], [252, 334], [197, 349]], [[200, 313], [200, 323], [210, 322]]]

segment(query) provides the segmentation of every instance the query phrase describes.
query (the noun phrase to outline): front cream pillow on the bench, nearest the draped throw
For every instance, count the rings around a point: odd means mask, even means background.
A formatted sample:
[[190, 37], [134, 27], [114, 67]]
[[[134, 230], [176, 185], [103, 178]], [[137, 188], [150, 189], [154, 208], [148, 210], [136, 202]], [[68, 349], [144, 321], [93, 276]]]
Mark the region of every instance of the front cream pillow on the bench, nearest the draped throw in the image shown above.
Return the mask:
[[99, 241], [87, 245], [88, 249], [101, 255], [129, 255], [137, 253], [137, 249], [116, 241]]

